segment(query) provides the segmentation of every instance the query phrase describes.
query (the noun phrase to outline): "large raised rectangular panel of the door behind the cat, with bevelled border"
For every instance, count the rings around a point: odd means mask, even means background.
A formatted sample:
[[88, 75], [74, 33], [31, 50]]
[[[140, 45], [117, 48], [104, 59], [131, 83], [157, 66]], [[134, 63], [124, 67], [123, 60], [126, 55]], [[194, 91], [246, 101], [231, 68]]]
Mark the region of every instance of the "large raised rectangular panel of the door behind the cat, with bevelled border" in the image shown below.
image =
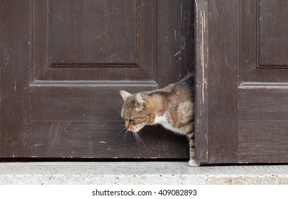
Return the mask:
[[33, 82], [154, 79], [153, 1], [42, 0], [33, 13]]

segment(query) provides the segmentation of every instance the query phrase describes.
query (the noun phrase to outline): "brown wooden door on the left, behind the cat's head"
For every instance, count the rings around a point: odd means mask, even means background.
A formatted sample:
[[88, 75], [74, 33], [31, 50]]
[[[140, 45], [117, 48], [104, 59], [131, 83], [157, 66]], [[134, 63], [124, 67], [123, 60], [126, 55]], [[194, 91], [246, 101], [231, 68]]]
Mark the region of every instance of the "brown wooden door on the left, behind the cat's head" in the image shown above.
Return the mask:
[[[1, 157], [187, 158], [160, 127], [122, 141], [119, 90], [193, 66], [191, 1], [0, 1]], [[119, 134], [120, 133], [120, 134]], [[118, 135], [119, 134], [119, 135]]]

